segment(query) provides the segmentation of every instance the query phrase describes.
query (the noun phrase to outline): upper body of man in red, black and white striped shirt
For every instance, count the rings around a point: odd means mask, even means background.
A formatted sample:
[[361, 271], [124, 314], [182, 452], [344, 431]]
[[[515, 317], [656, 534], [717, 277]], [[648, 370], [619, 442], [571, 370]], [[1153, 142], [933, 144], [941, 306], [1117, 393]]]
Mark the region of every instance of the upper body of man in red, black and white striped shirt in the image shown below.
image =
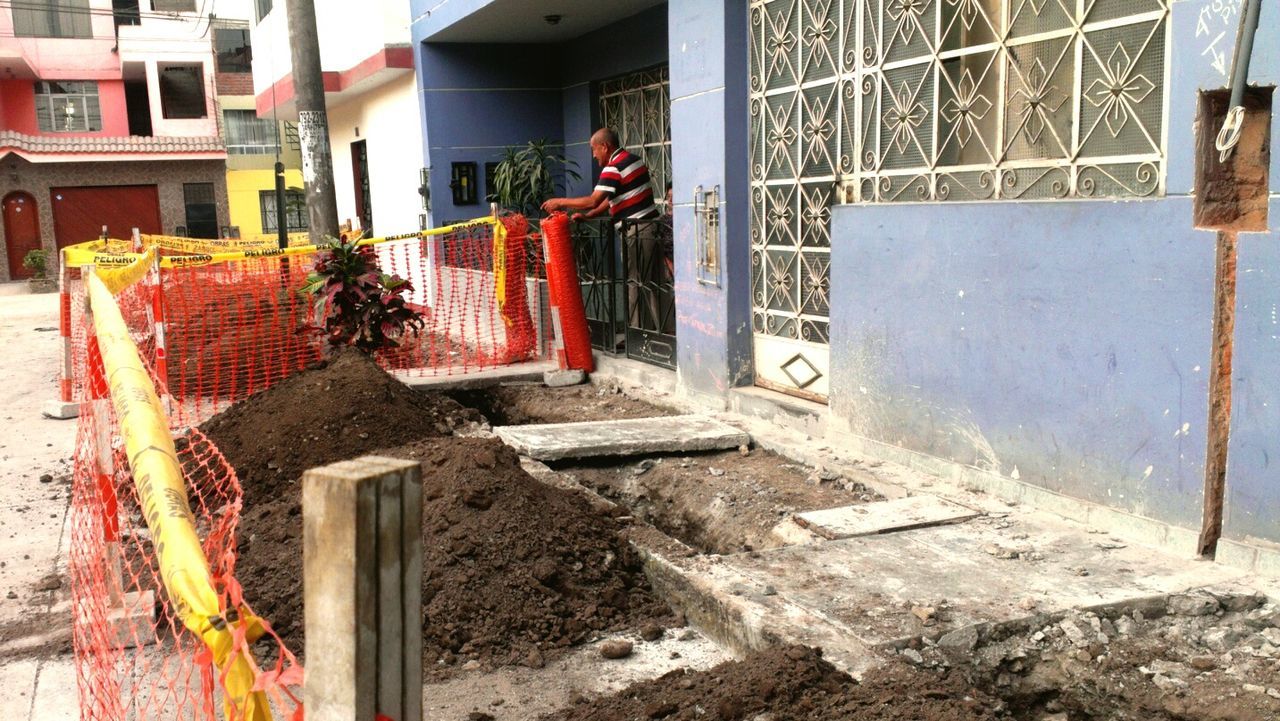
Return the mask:
[[618, 147], [618, 134], [600, 128], [591, 136], [591, 158], [600, 165], [600, 179], [591, 195], [581, 197], [553, 197], [543, 204], [543, 211], [577, 210], [573, 220], [598, 218], [605, 211], [613, 216], [616, 228], [625, 219], [658, 218], [649, 184], [649, 166], [639, 155]]

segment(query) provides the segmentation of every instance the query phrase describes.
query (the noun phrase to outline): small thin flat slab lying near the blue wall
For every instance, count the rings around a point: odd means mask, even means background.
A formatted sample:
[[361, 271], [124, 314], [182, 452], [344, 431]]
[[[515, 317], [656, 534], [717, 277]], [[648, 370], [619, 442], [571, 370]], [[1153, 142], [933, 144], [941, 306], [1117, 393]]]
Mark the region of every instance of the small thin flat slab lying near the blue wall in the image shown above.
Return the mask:
[[833, 540], [957, 523], [978, 515], [973, 508], [943, 501], [937, 496], [910, 496], [860, 506], [808, 511], [797, 514], [795, 519], [799, 525]]

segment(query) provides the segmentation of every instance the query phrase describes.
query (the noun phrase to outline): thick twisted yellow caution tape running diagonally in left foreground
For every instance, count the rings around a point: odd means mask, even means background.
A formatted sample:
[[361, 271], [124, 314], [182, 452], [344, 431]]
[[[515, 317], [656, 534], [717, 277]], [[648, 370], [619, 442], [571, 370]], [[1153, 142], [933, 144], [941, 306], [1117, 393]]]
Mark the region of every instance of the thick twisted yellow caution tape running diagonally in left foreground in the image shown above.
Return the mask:
[[200, 636], [223, 671], [228, 718], [271, 721], [266, 694], [252, 690], [253, 670], [242, 653], [233, 653], [232, 626], [246, 629], [246, 638], [252, 640], [253, 634], [261, 633], [261, 624], [250, 617], [223, 616], [155, 385], [110, 289], [92, 273], [86, 286], [111, 402], [142, 512], [155, 539], [164, 587], [183, 625]]

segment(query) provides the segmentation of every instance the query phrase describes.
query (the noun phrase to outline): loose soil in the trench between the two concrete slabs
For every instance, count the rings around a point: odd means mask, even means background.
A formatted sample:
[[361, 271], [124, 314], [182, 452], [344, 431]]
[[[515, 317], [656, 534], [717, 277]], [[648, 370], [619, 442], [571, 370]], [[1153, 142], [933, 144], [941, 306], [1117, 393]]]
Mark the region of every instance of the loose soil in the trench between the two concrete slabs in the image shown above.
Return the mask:
[[777, 548], [785, 542], [771, 531], [788, 514], [882, 499], [855, 479], [762, 450], [617, 462], [570, 461], [557, 467], [707, 553]]

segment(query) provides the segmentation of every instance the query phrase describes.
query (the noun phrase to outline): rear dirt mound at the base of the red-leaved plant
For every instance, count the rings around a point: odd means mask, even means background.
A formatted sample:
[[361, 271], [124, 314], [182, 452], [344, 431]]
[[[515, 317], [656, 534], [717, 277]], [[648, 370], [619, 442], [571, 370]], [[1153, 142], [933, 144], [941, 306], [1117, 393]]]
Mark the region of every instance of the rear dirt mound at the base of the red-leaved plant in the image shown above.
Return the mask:
[[420, 438], [448, 435], [479, 414], [406, 387], [347, 350], [236, 403], [200, 429], [236, 467], [244, 507], [297, 494], [302, 471]]

